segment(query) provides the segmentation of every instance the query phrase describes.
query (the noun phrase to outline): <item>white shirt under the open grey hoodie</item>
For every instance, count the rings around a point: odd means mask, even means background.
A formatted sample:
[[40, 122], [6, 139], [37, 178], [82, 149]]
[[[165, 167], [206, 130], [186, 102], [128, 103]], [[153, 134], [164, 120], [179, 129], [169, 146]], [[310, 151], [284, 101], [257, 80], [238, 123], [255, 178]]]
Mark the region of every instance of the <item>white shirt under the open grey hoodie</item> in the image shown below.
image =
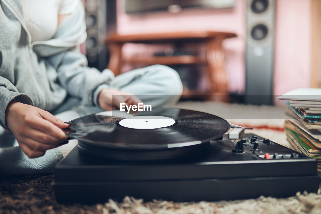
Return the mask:
[[70, 14], [79, 0], [22, 0], [24, 21], [31, 42], [51, 39], [58, 27], [58, 14]]

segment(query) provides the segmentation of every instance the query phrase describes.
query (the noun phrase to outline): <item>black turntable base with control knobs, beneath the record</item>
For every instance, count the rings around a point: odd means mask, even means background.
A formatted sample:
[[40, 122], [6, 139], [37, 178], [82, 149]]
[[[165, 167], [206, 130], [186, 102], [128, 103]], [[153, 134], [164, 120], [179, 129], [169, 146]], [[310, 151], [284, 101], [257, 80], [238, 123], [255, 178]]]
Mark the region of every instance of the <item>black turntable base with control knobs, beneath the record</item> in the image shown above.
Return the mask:
[[[143, 149], [140, 155], [144, 151], [151, 152]], [[167, 161], [99, 158], [76, 146], [56, 165], [54, 191], [61, 203], [120, 201], [127, 195], [145, 201], [217, 201], [316, 192], [320, 181], [315, 159], [254, 134], [238, 142], [226, 134], [202, 155]]]

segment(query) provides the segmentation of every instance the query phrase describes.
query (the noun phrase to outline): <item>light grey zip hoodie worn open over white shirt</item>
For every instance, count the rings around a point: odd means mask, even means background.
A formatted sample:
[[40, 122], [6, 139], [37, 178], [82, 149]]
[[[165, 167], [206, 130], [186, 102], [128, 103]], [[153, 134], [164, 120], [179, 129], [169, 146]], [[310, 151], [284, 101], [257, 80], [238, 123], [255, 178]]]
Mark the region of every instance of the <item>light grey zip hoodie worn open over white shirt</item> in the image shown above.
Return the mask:
[[94, 105], [100, 85], [114, 74], [87, 66], [76, 46], [86, 39], [81, 1], [52, 39], [31, 43], [19, 0], [0, 0], [0, 122], [13, 99], [52, 111], [69, 96]]

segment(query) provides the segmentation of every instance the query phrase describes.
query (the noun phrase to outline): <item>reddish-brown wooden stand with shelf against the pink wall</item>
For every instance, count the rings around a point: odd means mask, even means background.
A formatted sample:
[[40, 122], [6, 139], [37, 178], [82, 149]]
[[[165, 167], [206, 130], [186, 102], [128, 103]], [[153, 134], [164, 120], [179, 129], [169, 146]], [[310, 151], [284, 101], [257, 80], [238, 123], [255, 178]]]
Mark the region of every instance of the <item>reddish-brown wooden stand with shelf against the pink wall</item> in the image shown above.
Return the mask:
[[[205, 64], [207, 65], [208, 75], [208, 94], [207, 95], [227, 95], [228, 94], [228, 76], [225, 70], [225, 59], [222, 47], [222, 41], [226, 38], [236, 37], [235, 33], [215, 32], [215, 31], [190, 31], [190, 32], [170, 32], [170, 33], [150, 33], [119, 35], [112, 34], [106, 39], [110, 49], [110, 60], [108, 68], [115, 73], [120, 74], [121, 66], [124, 63], [146, 64], [146, 65], [188, 65]], [[183, 55], [171, 57], [140, 57], [124, 58], [122, 47], [125, 43], [143, 43], [143, 44], [164, 44], [172, 43], [175, 45], [184, 43], [203, 43], [206, 45], [206, 57]], [[185, 95], [195, 95], [187, 93]]]

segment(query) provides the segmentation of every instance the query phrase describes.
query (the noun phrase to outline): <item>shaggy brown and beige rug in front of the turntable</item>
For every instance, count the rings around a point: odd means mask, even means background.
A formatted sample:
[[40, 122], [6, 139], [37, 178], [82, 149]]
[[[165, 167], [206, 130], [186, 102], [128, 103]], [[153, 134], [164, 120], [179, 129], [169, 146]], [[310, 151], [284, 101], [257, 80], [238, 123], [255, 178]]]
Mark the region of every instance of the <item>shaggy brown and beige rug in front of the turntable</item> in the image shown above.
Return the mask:
[[211, 213], [321, 213], [321, 188], [317, 193], [298, 192], [295, 196], [276, 199], [257, 199], [217, 202], [143, 201], [125, 197], [123, 202], [113, 200], [105, 204], [62, 205], [55, 201], [54, 176], [37, 174], [3, 176], [0, 178], [0, 213], [103, 213], [103, 214], [211, 214]]

